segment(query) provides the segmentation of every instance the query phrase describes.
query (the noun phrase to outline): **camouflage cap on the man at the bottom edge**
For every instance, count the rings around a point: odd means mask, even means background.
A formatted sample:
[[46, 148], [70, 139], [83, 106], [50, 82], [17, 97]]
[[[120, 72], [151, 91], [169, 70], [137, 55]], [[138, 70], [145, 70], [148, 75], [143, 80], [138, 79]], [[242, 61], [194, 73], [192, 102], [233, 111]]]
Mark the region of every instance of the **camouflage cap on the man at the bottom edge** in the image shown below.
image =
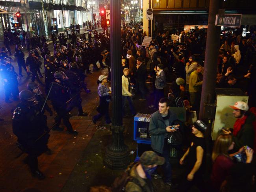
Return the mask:
[[162, 165], [165, 159], [158, 156], [154, 151], [145, 151], [140, 157], [140, 162], [143, 165]]

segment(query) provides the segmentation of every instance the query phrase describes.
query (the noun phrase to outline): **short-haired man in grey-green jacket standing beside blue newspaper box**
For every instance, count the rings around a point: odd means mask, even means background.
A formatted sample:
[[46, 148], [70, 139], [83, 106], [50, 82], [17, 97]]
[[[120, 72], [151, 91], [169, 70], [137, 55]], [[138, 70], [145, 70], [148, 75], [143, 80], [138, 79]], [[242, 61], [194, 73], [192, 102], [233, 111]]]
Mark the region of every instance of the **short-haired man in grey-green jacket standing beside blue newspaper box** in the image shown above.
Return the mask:
[[[151, 147], [158, 155], [165, 158], [163, 164], [164, 183], [165, 185], [173, 186], [171, 183], [172, 169], [169, 161], [170, 146], [167, 143], [168, 133], [174, 132], [179, 125], [173, 126], [173, 121], [177, 119], [176, 114], [170, 110], [170, 101], [167, 98], [161, 98], [158, 103], [159, 111], [152, 114], [149, 124], [149, 133], [151, 134]], [[160, 175], [154, 174], [156, 178], [161, 178]]]

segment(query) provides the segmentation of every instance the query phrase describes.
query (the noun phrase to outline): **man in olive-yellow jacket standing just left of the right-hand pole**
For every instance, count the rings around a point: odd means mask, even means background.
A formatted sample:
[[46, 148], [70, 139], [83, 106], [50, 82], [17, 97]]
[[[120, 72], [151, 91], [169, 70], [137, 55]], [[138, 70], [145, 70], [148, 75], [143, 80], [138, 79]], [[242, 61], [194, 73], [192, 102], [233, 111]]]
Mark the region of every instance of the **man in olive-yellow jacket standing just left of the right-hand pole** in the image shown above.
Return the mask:
[[200, 95], [202, 89], [202, 69], [201, 65], [197, 65], [195, 71], [193, 71], [189, 76], [189, 101], [190, 105], [195, 111], [199, 109]]

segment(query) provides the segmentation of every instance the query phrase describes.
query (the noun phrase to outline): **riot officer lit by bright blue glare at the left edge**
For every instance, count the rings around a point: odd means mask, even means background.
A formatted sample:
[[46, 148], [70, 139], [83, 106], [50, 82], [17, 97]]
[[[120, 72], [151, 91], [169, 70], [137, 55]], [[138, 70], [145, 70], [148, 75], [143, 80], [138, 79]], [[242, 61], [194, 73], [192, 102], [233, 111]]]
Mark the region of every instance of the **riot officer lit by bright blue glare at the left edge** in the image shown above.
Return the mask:
[[0, 76], [3, 79], [4, 90], [6, 95], [6, 103], [11, 103], [9, 100], [11, 94], [13, 95], [13, 100], [18, 101], [19, 88], [18, 88], [18, 74], [15, 72], [14, 67], [11, 65], [11, 60], [9, 58], [1, 59], [0, 65]]

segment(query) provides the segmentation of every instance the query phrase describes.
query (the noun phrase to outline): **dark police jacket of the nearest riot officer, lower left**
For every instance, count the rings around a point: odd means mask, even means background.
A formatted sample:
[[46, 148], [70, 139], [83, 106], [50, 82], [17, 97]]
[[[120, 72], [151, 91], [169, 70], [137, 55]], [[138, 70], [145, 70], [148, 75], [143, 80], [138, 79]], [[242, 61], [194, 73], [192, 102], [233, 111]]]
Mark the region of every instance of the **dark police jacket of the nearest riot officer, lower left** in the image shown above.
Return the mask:
[[34, 147], [35, 140], [48, 131], [47, 117], [37, 105], [27, 107], [23, 103], [19, 103], [12, 113], [13, 133], [18, 137], [18, 142], [25, 147]]

